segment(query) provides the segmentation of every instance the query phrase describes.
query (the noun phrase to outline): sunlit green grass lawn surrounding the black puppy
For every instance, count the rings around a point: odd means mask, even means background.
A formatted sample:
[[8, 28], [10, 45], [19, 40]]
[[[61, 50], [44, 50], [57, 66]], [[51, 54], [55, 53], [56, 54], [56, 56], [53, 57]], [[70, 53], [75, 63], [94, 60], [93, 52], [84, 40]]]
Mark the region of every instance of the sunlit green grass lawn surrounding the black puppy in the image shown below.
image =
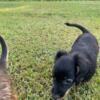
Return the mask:
[[[100, 2], [0, 2], [0, 34], [9, 47], [8, 72], [19, 100], [51, 100], [52, 66], [59, 49], [70, 51], [86, 26], [100, 43]], [[100, 55], [98, 56], [100, 65]], [[100, 68], [86, 84], [73, 87], [69, 100], [100, 100]]]

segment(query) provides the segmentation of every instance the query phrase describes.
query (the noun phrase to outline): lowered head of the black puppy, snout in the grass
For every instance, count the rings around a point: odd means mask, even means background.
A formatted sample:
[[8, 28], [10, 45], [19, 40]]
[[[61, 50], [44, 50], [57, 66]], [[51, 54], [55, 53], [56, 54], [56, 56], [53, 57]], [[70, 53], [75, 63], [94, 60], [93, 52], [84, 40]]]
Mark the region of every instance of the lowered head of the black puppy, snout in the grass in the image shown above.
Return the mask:
[[59, 51], [56, 54], [53, 68], [53, 98], [55, 100], [62, 98], [73, 85], [74, 79], [75, 64], [73, 58], [65, 51]]

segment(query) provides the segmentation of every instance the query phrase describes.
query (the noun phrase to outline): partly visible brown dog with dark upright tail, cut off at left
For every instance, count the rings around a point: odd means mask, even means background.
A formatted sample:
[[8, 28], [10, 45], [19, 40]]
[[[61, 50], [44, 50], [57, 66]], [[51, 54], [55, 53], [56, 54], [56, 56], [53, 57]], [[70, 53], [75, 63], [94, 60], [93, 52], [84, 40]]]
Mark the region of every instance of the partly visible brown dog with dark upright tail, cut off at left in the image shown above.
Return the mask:
[[3, 37], [0, 36], [2, 53], [0, 57], [0, 100], [18, 100], [17, 96], [12, 93], [11, 80], [7, 74], [7, 44]]

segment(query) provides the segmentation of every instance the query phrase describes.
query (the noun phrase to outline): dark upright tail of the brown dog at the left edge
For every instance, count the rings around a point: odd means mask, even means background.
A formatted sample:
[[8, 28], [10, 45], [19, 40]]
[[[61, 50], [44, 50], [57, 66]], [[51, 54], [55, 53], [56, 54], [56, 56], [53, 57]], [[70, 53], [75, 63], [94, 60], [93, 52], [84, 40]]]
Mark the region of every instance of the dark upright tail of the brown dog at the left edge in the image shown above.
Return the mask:
[[1, 43], [1, 47], [2, 47], [0, 63], [5, 63], [7, 60], [7, 44], [2, 36], [0, 36], [0, 43]]

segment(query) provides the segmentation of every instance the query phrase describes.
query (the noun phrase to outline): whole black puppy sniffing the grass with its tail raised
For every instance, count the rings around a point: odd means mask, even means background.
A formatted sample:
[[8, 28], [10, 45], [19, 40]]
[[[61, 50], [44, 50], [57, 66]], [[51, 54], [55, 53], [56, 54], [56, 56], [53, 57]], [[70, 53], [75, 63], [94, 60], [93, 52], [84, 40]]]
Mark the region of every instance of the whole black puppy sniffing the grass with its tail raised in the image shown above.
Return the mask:
[[83, 34], [74, 42], [69, 53], [59, 51], [56, 54], [52, 88], [55, 100], [62, 98], [74, 83], [78, 85], [91, 79], [99, 51], [96, 38], [86, 28], [78, 24], [65, 24], [79, 28]]

